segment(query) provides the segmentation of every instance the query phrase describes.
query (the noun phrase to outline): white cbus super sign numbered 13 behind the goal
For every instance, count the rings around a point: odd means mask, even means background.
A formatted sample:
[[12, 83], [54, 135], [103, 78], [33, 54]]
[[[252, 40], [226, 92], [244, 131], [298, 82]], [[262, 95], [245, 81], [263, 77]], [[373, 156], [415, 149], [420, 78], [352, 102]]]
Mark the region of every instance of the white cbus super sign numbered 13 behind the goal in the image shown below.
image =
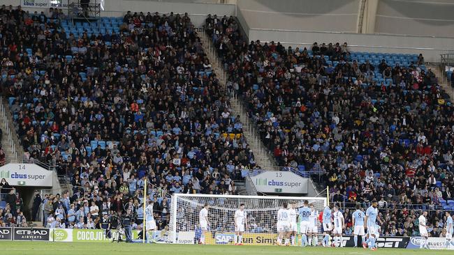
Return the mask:
[[291, 171], [261, 171], [249, 176], [258, 192], [307, 194], [309, 179]]

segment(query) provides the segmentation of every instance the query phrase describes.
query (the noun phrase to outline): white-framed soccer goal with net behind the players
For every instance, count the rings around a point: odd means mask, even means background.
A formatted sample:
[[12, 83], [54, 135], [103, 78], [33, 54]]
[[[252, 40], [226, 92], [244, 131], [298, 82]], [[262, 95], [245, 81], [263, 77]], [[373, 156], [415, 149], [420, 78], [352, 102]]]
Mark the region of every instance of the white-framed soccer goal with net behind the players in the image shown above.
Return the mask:
[[[180, 244], [203, 242], [207, 245], [233, 245], [235, 238], [235, 212], [244, 203], [246, 227], [242, 243], [244, 245], [273, 245], [277, 240], [277, 211], [283, 203], [296, 204], [296, 209], [304, 201], [314, 205], [318, 212], [327, 205], [321, 197], [286, 196], [224, 196], [210, 194], [174, 194], [170, 210], [169, 241]], [[202, 231], [199, 221], [200, 210], [208, 204], [210, 226]], [[298, 223], [299, 230], [299, 223]], [[319, 232], [320, 233], [320, 232]], [[298, 237], [296, 240], [299, 240]]]

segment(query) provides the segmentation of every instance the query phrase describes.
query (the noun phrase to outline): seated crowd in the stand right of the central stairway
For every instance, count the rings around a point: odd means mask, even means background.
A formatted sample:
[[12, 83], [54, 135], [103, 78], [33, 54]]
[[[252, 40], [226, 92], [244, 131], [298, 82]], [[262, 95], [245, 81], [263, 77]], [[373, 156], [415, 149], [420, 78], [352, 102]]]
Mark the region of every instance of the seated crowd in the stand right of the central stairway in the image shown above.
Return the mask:
[[311, 173], [347, 208], [380, 201], [399, 231], [411, 233], [402, 226], [415, 219], [402, 208], [432, 209], [430, 223], [442, 222], [435, 210], [450, 210], [453, 199], [453, 106], [422, 55], [408, 66], [374, 65], [352, 61], [346, 43], [247, 42], [226, 16], [209, 15], [205, 31], [229, 74], [227, 88], [244, 100], [279, 166]]

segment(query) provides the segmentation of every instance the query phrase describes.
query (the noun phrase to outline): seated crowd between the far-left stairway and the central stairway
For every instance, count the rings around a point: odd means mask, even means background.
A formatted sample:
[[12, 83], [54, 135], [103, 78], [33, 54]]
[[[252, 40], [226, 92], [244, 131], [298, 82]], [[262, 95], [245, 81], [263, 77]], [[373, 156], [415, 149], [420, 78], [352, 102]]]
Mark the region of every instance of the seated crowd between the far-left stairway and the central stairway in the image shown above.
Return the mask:
[[258, 166], [187, 14], [128, 12], [119, 34], [76, 38], [54, 13], [0, 8], [1, 88], [26, 160], [73, 185], [39, 198], [44, 225], [140, 212], [145, 181], [163, 225], [168, 194], [237, 194], [242, 171]]

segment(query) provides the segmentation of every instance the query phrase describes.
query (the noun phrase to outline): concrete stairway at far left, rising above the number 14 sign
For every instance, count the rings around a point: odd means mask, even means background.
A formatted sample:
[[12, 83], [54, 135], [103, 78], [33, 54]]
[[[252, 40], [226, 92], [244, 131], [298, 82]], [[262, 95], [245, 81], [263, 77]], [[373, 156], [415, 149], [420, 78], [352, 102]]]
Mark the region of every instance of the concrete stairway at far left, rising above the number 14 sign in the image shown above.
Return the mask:
[[[8, 100], [0, 96], [0, 128], [3, 132], [1, 137], [1, 148], [6, 154], [6, 163], [19, 162], [22, 159], [23, 150], [17, 139], [13, 119], [10, 114]], [[22, 153], [22, 154], [21, 154]]]

